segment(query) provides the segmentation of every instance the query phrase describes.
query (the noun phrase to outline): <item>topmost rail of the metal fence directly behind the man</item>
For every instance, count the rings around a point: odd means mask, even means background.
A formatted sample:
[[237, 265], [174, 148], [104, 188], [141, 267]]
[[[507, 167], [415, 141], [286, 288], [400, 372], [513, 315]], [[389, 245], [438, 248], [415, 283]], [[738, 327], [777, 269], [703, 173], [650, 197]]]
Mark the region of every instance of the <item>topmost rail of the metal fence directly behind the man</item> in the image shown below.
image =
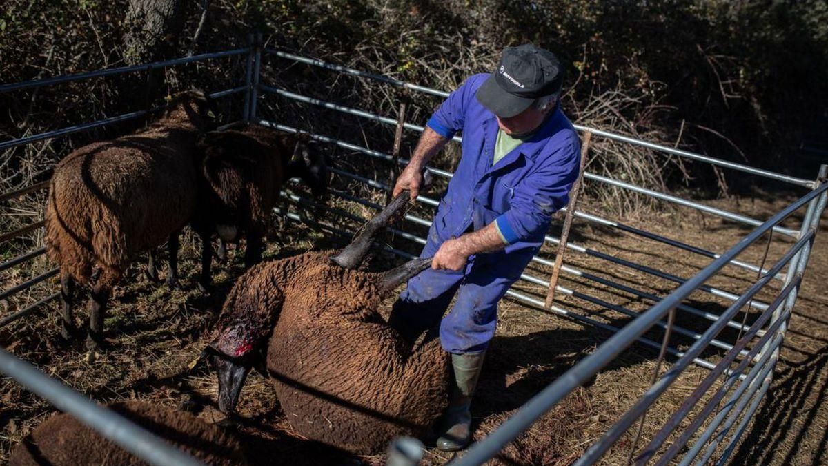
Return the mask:
[[[426, 86], [422, 86], [422, 85], [414, 85], [414, 84], [407, 83], [407, 82], [402, 81], [402, 80], [395, 80], [393, 78], [388, 78], [387, 76], [383, 76], [383, 75], [375, 75], [373, 73], [367, 73], [365, 71], [354, 70], [353, 68], [347, 68], [345, 66], [332, 65], [332, 64], [327, 63], [325, 61], [316, 60], [316, 59], [313, 59], [313, 58], [307, 58], [305, 56], [297, 56], [297, 55], [293, 55], [293, 54], [290, 54], [290, 53], [286, 53], [284, 51], [277, 51], [277, 50], [273, 50], [273, 49], [266, 49], [265, 51], [267, 53], [272, 54], [272, 55], [280, 56], [282, 58], [286, 58], [286, 59], [292, 60], [292, 61], [298, 61], [298, 62], [301, 62], [301, 63], [305, 63], [307, 65], [319, 66], [320, 68], [325, 68], [325, 69], [328, 69], [328, 70], [335, 70], [335, 71], [339, 71], [340, 73], [344, 73], [344, 74], [348, 74], [348, 75], [359, 76], [361, 78], [368, 78], [370, 80], [377, 80], [377, 81], [380, 81], [380, 82], [384, 82], [386, 84], [397, 85], [397, 86], [400, 86], [400, 87], [405, 87], [407, 89], [416, 90], [416, 91], [419, 91], [419, 92], [423, 92], [423, 93], [430, 94], [430, 95], [436, 95], [436, 96], [439, 96], [439, 97], [448, 97], [449, 96], [449, 93], [445, 92], [443, 90], [431, 89], [430, 87], [426, 87]], [[574, 124], [573, 126], [575, 127], [575, 129], [577, 129], [578, 131], [581, 131], [581, 132], [589, 131], [590, 133], [598, 134], [599, 136], [603, 136], [604, 138], [615, 139], [615, 140], [618, 140], [618, 141], [623, 141], [625, 143], [631, 143], [631, 144], [634, 144], [634, 145], [643, 146], [643, 147], [646, 147], [646, 148], [656, 150], [658, 152], [670, 153], [672, 155], [676, 155], [678, 157], [683, 157], [683, 158], [690, 158], [691, 160], [696, 160], [698, 162], [710, 163], [712, 165], [717, 165], [717, 166], [720, 166], [720, 167], [730, 168], [730, 169], [733, 169], [733, 170], [737, 170], [739, 172], [746, 172], [746, 173], [750, 173], [752, 175], [757, 175], [759, 177], [767, 177], [767, 178], [771, 178], [771, 179], [774, 179], [774, 180], [777, 180], [777, 181], [780, 181], [780, 182], [788, 182], [788, 183], [796, 184], [796, 185], [803, 186], [803, 187], [813, 187], [814, 186], [813, 182], [811, 182], [811, 180], [806, 180], [806, 179], [797, 178], [797, 177], [790, 177], [790, 176], [787, 176], [787, 175], [783, 175], [782, 173], [771, 172], [771, 171], [768, 171], [768, 170], [763, 170], [761, 168], [750, 167], [749, 165], [744, 165], [744, 164], [741, 164], [741, 163], [728, 162], [728, 161], [722, 160], [720, 158], [708, 157], [708, 156], [705, 156], [705, 155], [701, 155], [699, 153], [692, 153], [692, 152], [689, 152], [689, 151], [685, 151], [685, 150], [681, 150], [681, 149], [677, 149], [677, 148], [671, 148], [671, 147], [664, 146], [664, 145], [661, 145], [661, 144], [648, 143], [647, 141], [643, 141], [641, 139], [631, 138], [629, 136], [624, 136], [622, 134], [609, 133], [609, 131], [590, 128], [588, 126], [583, 126], [583, 125], [580, 125], [580, 124]]]

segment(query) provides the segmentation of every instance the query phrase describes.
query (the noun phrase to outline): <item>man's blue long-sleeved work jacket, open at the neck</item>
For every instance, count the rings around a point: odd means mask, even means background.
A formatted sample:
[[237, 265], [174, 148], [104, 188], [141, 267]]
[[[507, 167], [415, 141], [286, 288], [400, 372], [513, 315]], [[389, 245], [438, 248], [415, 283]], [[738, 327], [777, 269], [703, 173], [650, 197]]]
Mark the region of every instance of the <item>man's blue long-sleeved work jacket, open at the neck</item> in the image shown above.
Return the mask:
[[[543, 243], [551, 215], [566, 206], [578, 177], [580, 139], [560, 106], [531, 138], [492, 165], [498, 121], [474, 97], [488, 74], [471, 76], [431, 115], [429, 128], [444, 138], [462, 132], [462, 155], [440, 201], [430, 239], [459, 236], [497, 221], [506, 254], [528, 255]], [[518, 264], [515, 264], [516, 266]]]

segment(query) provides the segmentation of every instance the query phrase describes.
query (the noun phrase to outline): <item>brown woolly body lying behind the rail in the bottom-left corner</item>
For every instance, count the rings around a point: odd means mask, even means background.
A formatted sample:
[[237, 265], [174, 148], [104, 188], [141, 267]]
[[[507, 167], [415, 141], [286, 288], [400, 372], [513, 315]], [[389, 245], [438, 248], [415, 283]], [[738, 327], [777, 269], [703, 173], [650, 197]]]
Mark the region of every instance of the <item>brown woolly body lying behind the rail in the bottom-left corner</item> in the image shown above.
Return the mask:
[[[238, 440], [194, 415], [143, 401], [109, 405], [118, 414], [210, 465], [247, 464]], [[12, 450], [10, 466], [146, 464], [74, 417], [52, 415]]]

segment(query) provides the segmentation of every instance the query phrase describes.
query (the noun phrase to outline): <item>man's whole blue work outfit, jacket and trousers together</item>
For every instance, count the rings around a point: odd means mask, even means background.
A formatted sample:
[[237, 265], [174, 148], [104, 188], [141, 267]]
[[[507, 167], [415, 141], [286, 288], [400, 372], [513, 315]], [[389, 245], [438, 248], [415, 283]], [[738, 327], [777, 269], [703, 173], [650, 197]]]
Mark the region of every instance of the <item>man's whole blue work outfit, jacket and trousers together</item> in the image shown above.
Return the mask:
[[494, 336], [498, 301], [520, 277], [543, 244], [551, 214], [566, 206], [578, 176], [580, 140], [560, 108], [531, 138], [492, 166], [498, 122], [474, 97], [489, 77], [474, 75], [449, 95], [428, 126], [444, 138], [463, 133], [462, 155], [440, 201], [421, 257], [469, 226], [477, 231], [497, 221], [504, 250], [469, 257], [460, 271], [426, 269], [410, 279], [392, 310], [392, 325], [403, 333], [440, 322], [447, 352], [483, 351]]

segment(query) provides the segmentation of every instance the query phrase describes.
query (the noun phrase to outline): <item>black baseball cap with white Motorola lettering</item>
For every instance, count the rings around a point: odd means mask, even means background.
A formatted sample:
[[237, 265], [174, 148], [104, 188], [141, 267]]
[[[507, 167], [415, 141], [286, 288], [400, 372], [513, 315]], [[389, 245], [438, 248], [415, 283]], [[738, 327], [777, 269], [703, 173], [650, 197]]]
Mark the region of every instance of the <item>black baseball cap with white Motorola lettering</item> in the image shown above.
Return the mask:
[[538, 97], [555, 94], [563, 78], [561, 62], [551, 51], [533, 44], [507, 47], [500, 66], [475, 96], [493, 114], [509, 118], [528, 109]]

